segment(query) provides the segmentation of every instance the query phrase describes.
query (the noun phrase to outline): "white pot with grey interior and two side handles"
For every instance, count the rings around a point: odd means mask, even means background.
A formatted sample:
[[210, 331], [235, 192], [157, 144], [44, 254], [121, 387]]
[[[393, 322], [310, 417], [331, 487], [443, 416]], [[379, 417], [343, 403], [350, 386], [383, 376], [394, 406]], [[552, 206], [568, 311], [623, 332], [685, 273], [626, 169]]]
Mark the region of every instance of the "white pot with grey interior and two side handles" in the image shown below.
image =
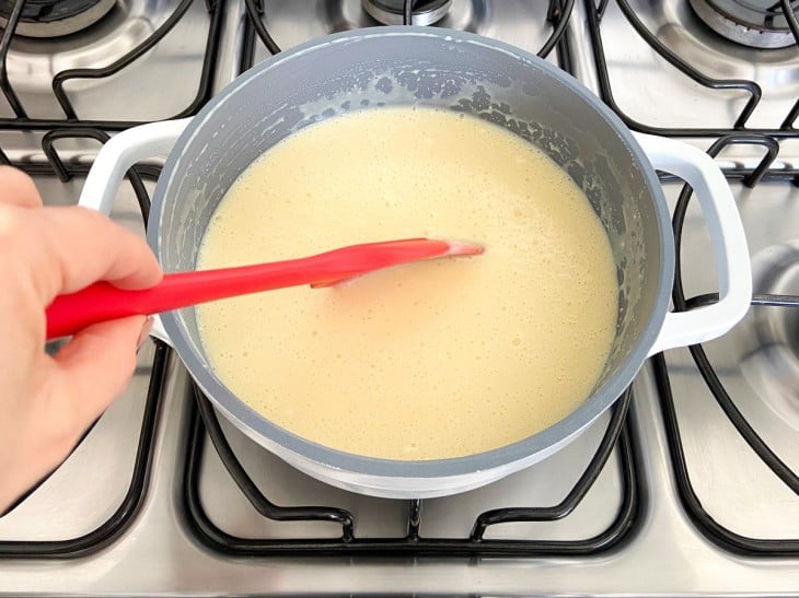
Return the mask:
[[[164, 270], [192, 270], [217, 204], [256, 157], [308, 125], [384, 105], [435, 106], [486, 118], [539, 145], [571, 176], [611, 241], [618, 272], [615, 340], [591, 396], [551, 427], [478, 455], [394, 461], [332, 450], [258, 415], [209, 367], [194, 310], [163, 314], [170, 342], [216, 409], [298, 469], [386, 497], [439, 496], [487, 484], [569, 443], [613, 404], [649, 355], [715, 338], [746, 312], [746, 243], [713, 160], [673, 140], [630, 133], [570, 75], [519, 48], [468, 33], [358, 30], [283, 51], [239, 77], [196, 117], [116, 136], [97, 156], [81, 202], [107, 211], [130, 165], [169, 153], [148, 241]], [[699, 199], [718, 271], [715, 305], [668, 312], [674, 242], [656, 168], [687, 180]]]

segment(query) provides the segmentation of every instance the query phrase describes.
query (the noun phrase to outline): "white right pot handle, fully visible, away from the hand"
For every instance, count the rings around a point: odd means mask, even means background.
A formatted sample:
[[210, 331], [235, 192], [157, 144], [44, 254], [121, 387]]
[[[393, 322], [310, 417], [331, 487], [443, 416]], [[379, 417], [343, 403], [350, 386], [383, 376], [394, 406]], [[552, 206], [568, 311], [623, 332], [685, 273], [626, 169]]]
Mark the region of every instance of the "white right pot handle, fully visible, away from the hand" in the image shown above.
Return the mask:
[[720, 337], [749, 309], [752, 269], [746, 237], [727, 179], [714, 160], [693, 145], [642, 133], [633, 133], [656, 169], [679, 176], [694, 189], [710, 236], [719, 279], [719, 301], [714, 305], [669, 313], [649, 355]]

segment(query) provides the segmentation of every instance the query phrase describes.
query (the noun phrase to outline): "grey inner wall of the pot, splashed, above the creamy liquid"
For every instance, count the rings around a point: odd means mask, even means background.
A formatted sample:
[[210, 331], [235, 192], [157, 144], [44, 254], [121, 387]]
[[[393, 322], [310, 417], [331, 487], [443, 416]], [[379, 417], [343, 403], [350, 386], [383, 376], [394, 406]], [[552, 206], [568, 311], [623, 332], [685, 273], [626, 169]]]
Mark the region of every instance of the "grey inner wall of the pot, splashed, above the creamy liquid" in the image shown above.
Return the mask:
[[[170, 156], [153, 201], [151, 241], [161, 263], [166, 271], [194, 269], [209, 219], [231, 184], [303, 127], [398, 105], [490, 120], [558, 163], [607, 231], [619, 310], [611, 355], [589, 400], [595, 403], [592, 419], [632, 380], [662, 323], [672, 250], [663, 237], [655, 173], [610, 110], [600, 110], [599, 101], [553, 67], [467, 34], [416, 27], [373, 32], [285, 52], [240, 77], [195, 118]], [[268, 204], [263, 218], [269, 218]], [[170, 333], [181, 356], [194, 355], [196, 367], [207, 367], [194, 310], [174, 318]], [[183, 338], [174, 338], [175, 329]], [[574, 430], [563, 434], [568, 433]]]

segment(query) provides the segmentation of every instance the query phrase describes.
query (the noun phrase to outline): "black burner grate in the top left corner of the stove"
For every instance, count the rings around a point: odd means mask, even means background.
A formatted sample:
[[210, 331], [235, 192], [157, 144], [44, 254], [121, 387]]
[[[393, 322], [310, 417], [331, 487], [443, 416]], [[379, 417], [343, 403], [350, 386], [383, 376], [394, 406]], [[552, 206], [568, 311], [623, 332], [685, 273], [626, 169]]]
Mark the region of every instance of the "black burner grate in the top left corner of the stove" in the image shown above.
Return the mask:
[[[120, 131], [136, 125], [143, 125], [144, 121], [130, 120], [85, 120], [77, 114], [69, 94], [65, 90], [68, 81], [76, 79], [104, 79], [112, 77], [126, 67], [134, 63], [141, 56], [151, 50], [186, 14], [193, 2], [199, 0], [182, 0], [175, 11], [166, 21], [155, 30], [147, 39], [128, 51], [125, 56], [103, 68], [97, 69], [68, 69], [58, 72], [53, 78], [53, 93], [63, 110], [65, 118], [32, 118], [28, 116], [24, 104], [18, 96], [13, 85], [8, 78], [7, 60], [14, 31], [22, 15], [22, 8], [26, 0], [16, 0], [9, 16], [9, 23], [0, 37], [0, 92], [4, 95], [14, 117], [0, 118], [0, 130], [48, 130], [58, 128], [83, 128], [92, 127], [106, 131]], [[206, 0], [206, 9], [209, 12], [208, 37], [206, 40], [205, 54], [202, 57], [202, 69], [197, 83], [197, 93], [189, 104], [180, 113], [170, 118], [183, 118], [196, 114], [200, 107], [211, 97], [213, 84], [213, 70], [217, 65], [219, 52], [219, 38], [221, 34], [224, 3], [217, 0]]]

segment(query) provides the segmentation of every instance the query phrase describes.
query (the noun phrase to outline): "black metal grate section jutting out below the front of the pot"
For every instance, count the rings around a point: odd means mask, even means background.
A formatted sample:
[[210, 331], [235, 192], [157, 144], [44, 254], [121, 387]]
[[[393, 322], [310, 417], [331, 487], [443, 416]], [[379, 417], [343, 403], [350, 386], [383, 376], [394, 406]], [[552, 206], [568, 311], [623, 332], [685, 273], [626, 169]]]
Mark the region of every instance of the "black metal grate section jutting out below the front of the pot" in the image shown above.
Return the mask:
[[[319, 555], [343, 556], [369, 554], [387, 555], [445, 555], [445, 556], [532, 556], [563, 555], [586, 556], [599, 554], [623, 543], [638, 520], [640, 490], [636, 461], [630, 442], [630, 423], [627, 418], [632, 391], [627, 389], [613, 407], [607, 429], [597, 453], [579, 480], [557, 505], [498, 508], [482, 513], [474, 521], [472, 531], [464, 538], [425, 538], [420, 535], [424, 519], [424, 501], [408, 501], [406, 533], [403, 537], [360, 538], [358, 521], [349, 512], [329, 506], [282, 507], [274, 504], [256, 486], [228, 444], [217, 420], [213, 407], [197, 387], [189, 414], [189, 439], [183, 478], [183, 497], [188, 528], [208, 549], [236, 556]], [[207, 437], [239, 490], [264, 517], [276, 521], [315, 520], [340, 525], [338, 538], [239, 538], [232, 536], [210, 519], [202, 507], [199, 482], [202, 474], [202, 456]], [[567, 517], [586, 496], [599, 477], [614, 449], [621, 461], [622, 504], [615, 519], [602, 532], [578, 540], [499, 540], [485, 538], [493, 526], [511, 521], [555, 521]]]

